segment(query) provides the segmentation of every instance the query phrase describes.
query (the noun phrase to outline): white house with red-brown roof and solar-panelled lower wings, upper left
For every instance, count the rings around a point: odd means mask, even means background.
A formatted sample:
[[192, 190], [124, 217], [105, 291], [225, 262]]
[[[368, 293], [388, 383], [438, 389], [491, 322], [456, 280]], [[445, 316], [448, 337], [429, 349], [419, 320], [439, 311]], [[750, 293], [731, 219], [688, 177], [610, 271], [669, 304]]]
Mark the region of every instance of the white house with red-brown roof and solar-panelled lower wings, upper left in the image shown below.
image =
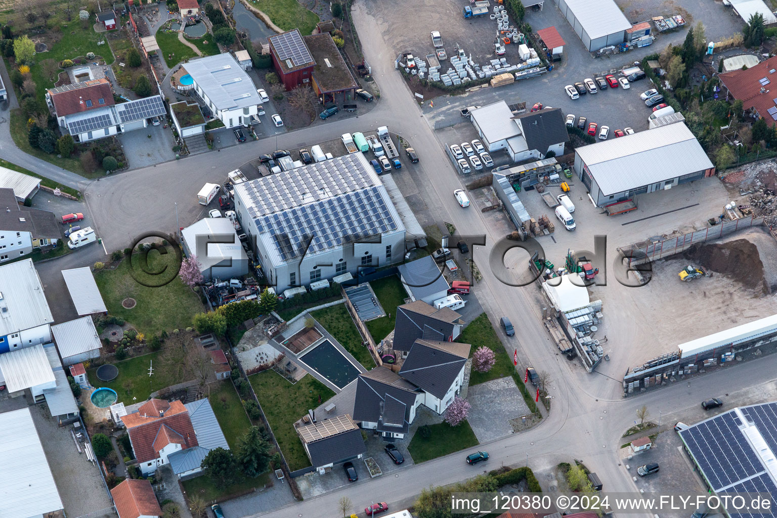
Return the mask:
[[147, 127], [152, 117], [167, 113], [161, 96], [115, 103], [106, 78], [48, 89], [46, 102], [57, 116], [62, 134], [70, 134], [76, 142], [139, 130]]

